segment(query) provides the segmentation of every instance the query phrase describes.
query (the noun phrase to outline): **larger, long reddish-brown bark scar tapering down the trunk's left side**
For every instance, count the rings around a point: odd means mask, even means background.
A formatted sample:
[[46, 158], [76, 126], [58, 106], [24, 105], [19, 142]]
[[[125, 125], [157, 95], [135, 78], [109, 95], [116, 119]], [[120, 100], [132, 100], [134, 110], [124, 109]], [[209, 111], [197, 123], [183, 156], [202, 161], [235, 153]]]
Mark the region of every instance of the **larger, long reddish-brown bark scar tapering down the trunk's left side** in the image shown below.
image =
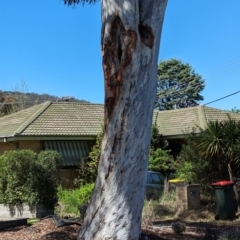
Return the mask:
[[136, 42], [137, 33], [131, 29], [125, 29], [120, 17], [115, 16], [111, 22], [109, 37], [103, 44], [105, 119], [107, 121], [119, 99], [124, 72], [132, 61]]

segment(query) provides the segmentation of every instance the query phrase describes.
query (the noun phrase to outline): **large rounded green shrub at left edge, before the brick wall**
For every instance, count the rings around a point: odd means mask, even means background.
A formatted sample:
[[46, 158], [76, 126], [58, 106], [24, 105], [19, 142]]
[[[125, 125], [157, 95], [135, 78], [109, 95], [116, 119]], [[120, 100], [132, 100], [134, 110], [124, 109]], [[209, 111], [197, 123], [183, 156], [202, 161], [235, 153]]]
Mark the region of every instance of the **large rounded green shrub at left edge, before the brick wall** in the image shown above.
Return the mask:
[[58, 163], [54, 151], [39, 155], [32, 150], [6, 151], [0, 156], [0, 202], [6, 205], [57, 203]]

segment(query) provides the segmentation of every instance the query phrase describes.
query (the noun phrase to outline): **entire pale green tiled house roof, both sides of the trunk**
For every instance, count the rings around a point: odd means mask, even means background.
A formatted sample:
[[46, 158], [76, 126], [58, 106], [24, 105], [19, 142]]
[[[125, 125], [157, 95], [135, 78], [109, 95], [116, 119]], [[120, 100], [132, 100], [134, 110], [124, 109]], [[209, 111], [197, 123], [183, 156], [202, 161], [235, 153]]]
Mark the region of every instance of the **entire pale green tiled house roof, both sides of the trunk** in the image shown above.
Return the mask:
[[[176, 137], [204, 128], [207, 121], [240, 120], [240, 114], [206, 106], [154, 111], [153, 124], [163, 136]], [[45, 102], [0, 117], [0, 138], [4, 137], [95, 137], [104, 118], [102, 104], [81, 102]]]

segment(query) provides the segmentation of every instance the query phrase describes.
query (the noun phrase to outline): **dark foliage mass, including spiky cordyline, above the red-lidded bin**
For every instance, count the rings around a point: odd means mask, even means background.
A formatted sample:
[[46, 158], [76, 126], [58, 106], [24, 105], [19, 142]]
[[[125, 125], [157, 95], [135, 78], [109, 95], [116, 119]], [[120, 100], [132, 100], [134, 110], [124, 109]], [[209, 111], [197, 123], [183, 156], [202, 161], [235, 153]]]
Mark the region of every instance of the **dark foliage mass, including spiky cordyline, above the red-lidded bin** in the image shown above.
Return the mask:
[[[186, 138], [186, 145], [178, 157], [178, 177], [201, 184], [205, 193], [211, 193], [213, 182], [232, 180], [239, 182], [240, 122], [208, 122], [199, 134]], [[204, 174], [203, 174], [204, 173]], [[238, 191], [235, 188], [238, 199]]]

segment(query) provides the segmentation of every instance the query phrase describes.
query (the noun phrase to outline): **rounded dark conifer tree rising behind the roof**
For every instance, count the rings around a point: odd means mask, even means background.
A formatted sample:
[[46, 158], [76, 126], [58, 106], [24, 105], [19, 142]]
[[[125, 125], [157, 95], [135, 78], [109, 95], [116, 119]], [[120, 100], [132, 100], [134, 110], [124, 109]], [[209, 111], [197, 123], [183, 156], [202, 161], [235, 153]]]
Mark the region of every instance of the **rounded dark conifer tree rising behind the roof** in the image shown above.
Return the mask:
[[155, 108], [171, 110], [193, 107], [203, 100], [204, 80], [188, 63], [170, 59], [158, 65]]

